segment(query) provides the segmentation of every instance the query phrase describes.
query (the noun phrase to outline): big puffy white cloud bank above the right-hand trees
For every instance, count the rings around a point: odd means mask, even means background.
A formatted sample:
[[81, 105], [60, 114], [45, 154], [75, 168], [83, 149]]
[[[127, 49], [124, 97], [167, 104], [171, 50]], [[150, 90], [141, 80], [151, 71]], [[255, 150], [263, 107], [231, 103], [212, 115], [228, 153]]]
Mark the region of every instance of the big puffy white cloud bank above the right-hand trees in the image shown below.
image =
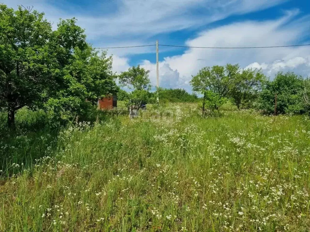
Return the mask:
[[[307, 33], [310, 22], [309, 17], [292, 20], [297, 15], [298, 11], [288, 11], [277, 20], [246, 21], [224, 25], [201, 32], [196, 38], [188, 40], [186, 45], [207, 47], [291, 45]], [[200, 68], [226, 63], [239, 63], [242, 68], [262, 68], [271, 78], [278, 71], [287, 70], [308, 75], [309, 54], [309, 46], [264, 49], [190, 48], [182, 55], [164, 58], [164, 61], [160, 62], [160, 67], [166, 67], [178, 73], [175, 86], [189, 88], [191, 75], [195, 75]], [[161, 78], [166, 80], [165, 76]]]

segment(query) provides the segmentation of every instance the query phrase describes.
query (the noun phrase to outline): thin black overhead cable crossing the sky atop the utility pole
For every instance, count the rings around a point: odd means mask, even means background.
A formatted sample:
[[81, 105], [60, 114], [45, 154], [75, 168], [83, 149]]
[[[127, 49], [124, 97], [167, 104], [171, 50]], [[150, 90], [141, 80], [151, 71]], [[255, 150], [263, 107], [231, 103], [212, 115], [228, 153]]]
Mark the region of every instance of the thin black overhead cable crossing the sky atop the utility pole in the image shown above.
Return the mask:
[[[310, 44], [283, 45], [283, 46], [264, 46], [264, 47], [193, 47], [193, 46], [164, 45], [164, 44], [159, 44], [158, 46], [179, 47], [179, 48], [248, 49], [248, 48], [285, 48], [285, 47], [299, 47], [299, 46], [309, 46], [309, 45], [310, 45]], [[151, 44], [151, 45], [139, 45], [139, 46], [126, 46], [126, 47], [105, 47], [105, 48], [94, 48], [94, 49], [139, 48], [139, 47], [150, 47], [150, 46], [156, 46], [156, 44]]]

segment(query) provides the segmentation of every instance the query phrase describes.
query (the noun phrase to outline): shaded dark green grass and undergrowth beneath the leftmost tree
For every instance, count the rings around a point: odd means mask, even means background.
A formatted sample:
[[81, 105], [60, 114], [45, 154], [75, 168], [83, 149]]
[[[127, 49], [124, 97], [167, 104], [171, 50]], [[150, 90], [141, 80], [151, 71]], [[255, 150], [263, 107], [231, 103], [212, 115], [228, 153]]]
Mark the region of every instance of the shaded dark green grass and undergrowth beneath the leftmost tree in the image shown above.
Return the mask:
[[15, 115], [16, 130], [7, 128], [7, 113], [0, 112], [0, 170], [2, 175], [18, 174], [33, 169], [35, 160], [56, 145], [57, 128], [46, 126], [47, 115], [42, 110], [22, 108]]

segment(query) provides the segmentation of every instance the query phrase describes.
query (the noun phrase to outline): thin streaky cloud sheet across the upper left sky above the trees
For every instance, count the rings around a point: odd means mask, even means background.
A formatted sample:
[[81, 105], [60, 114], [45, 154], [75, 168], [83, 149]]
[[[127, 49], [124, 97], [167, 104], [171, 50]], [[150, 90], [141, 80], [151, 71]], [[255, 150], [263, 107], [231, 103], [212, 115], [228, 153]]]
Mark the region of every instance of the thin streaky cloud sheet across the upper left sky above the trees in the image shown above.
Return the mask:
[[[125, 46], [145, 44], [150, 37], [160, 33], [193, 29], [230, 15], [261, 10], [286, 0], [119, 0], [115, 4], [117, 9], [111, 9], [109, 14], [104, 15], [98, 13], [98, 9], [105, 10], [107, 4], [94, 4], [96, 13], [90, 15], [78, 4], [68, 7], [68, 12], [47, 0], [2, 1], [14, 8], [17, 4], [33, 5], [35, 9], [44, 11], [47, 18], [55, 23], [54, 26], [59, 18], [76, 17], [78, 25], [86, 29], [88, 39], [95, 46], [111, 47], [115, 43]], [[128, 53], [132, 51], [128, 50]]]

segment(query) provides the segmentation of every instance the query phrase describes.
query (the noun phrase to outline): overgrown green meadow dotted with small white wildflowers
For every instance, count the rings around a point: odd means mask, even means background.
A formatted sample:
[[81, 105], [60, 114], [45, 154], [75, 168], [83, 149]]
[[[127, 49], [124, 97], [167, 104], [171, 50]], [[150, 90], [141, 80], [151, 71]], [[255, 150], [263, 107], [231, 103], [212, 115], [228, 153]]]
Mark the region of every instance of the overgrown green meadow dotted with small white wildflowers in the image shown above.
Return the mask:
[[4, 137], [0, 231], [309, 231], [307, 117], [149, 108]]

